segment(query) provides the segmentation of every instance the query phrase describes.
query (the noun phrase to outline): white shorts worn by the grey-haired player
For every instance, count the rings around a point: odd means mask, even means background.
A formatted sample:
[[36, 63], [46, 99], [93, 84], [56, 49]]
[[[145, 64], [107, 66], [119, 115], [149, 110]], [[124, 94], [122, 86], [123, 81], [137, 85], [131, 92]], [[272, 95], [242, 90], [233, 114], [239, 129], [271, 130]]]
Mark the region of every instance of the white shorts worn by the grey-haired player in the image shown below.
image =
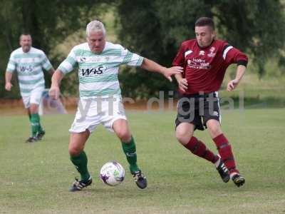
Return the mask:
[[81, 98], [78, 102], [76, 118], [69, 131], [92, 133], [96, 126], [102, 124], [108, 131], [113, 132], [113, 123], [118, 119], [127, 120], [122, 98], [120, 96], [109, 98]]

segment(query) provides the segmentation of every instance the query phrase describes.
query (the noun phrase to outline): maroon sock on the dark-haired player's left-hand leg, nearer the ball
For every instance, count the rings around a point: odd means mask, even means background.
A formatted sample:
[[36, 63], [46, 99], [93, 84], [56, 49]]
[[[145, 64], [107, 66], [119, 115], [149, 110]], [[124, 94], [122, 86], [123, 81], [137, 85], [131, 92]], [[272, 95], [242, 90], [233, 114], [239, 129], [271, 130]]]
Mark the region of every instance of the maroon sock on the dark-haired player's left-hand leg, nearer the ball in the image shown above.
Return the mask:
[[202, 141], [197, 138], [192, 137], [190, 141], [185, 145], [185, 147], [190, 150], [196, 156], [206, 159], [212, 163], [215, 163], [219, 157], [215, 156], [212, 151], [209, 151]]

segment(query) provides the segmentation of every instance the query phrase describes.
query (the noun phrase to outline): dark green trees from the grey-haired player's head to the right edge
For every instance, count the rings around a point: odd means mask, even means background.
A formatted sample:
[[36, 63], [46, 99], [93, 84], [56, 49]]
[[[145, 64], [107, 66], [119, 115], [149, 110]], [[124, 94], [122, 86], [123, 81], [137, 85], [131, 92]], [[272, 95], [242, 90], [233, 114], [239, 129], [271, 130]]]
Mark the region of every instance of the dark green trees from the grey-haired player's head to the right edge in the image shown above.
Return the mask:
[[[218, 38], [253, 56], [259, 77], [269, 58], [281, 58], [285, 43], [285, 17], [279, 1], [127, 1], [118, 5], [119, 37], [123, 45], [162, 65], [170, 66], [182, 41], [195, 38], [194, 25], [200, 16], [216, 21]], [[270, 17], [266, 19], [266, 17]], [[282, 61], [280, 61], [282, 62]], [[142, 97], [157, 91], [174, 90], [160, 76], [125, 68], [120, 78], [123, 93]], [[140, 93], [142, 91], [142, 93]]]

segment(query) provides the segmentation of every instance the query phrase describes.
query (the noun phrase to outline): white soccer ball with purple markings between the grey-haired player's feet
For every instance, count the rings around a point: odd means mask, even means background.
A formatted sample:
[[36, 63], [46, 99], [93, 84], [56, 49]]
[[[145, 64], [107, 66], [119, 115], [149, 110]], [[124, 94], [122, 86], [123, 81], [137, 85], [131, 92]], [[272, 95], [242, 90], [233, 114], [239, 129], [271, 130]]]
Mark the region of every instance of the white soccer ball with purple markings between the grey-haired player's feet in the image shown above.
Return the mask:
[[125, 178], [125, 169], [117, 161], [105, 163], [100, 169], [100, 179], [107, 185], [118, 185]]

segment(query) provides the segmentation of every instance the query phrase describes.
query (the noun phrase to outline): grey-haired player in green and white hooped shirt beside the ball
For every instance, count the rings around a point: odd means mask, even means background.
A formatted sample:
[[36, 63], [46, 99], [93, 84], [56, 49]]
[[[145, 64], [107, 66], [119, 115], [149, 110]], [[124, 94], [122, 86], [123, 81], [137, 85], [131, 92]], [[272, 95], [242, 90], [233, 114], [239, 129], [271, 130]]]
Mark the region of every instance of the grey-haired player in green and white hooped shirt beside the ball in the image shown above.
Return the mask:
[[71, 138], [68, 151], [71, 162], [81, 174], [81, 180], [76, 179], [71, 191], [81, 190], [92, 183], [83, 149], [90, 133], [99, 124], [103, 124], [120, 138], [135, 183], [139, 188], [147, 187], [145, 175], [137, 164], [135, 140], [125, 116], [118, 68], [122, 64], [140, 66], [147, 71], [162, 73], [170, 80], [172, 75], [182, 72], [180, 66], [165, 68], [150, 59], [131, 53], [119, 44], [105, 41], [105, 34], [105, 27], [100, 21], [91, 21], [86, 27], [87, 43], [73, 47], [52, 77], [49, 94], [58, 98], [59, 84], [64, 74], [78, 66], [80, 101], [76, 118], [69, 130]]

